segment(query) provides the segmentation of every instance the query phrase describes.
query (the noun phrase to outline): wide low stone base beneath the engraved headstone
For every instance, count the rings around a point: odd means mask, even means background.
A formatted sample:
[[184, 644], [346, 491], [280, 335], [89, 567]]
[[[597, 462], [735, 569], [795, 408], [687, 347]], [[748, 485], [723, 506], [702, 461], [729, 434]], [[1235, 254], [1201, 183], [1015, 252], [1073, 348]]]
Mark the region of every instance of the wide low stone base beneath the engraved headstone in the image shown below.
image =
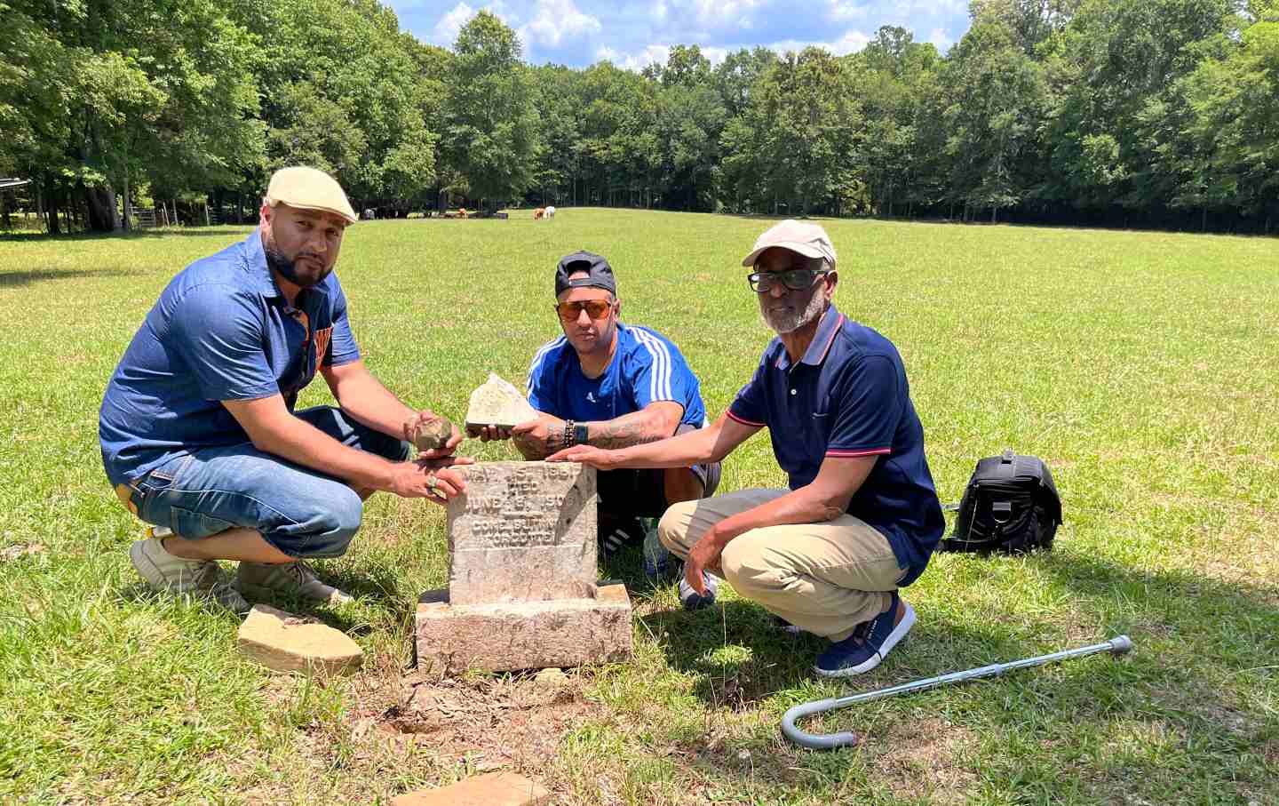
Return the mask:
[[430, 591], [414, 633], [418, 669], [432, 676], [608, 663], [631, 655], [631, 597], [601, 585], [593, 599], [457, 605]]

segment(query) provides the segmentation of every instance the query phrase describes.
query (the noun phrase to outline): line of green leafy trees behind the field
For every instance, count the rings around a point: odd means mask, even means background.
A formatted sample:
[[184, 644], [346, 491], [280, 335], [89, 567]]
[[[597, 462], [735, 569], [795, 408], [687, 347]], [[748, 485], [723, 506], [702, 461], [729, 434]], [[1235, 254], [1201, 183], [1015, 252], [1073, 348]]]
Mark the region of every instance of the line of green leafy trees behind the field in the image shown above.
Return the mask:
[[[450, 49], [376, 0], [0, 0], [0, 175], [49, 228], [139, 193], [251, 215], [271, 170], [357, 207], [448, 198], [1273, 232], [1279, 1], [973, 0], [941, 54], [696, 45], [532, 67], [481, 12]], [[13, 203], [0, 192], [0, 203]]]

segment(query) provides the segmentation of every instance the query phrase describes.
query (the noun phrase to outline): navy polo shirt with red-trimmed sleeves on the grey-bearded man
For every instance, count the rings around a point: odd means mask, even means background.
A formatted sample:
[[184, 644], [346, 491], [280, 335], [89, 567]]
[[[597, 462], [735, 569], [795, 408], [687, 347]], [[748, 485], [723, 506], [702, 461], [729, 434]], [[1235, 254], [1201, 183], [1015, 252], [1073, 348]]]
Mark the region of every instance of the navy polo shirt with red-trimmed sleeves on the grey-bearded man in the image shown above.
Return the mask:
[[830, 306], [803, 357], [790, 362], [774, 339], [728, 416], [767, 427], [790, 489], [812, 484], [826, 457], [880, 457], [848, 502], [848, 514], [888, 537], [899, 585], [929, 564], [945, 522], [923, 457], [923, 426], [893, 343]]

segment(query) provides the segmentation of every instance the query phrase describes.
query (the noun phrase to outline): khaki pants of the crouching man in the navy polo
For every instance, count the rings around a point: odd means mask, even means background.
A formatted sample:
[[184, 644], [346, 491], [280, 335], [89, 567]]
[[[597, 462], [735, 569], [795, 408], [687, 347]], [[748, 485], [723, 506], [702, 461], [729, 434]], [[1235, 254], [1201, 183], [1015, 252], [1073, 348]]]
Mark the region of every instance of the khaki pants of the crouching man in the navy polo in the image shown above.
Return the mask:
[[[657, 535], [671, 553], [687, 558], [715, 523], [785, 494], [741, 490], [683, 502], [666, 510]], [[888, 539], [847, 513], [824, 523], [752, 530], [729, 541], [720, 562], [738, 594], [833, 641], [886, 610], [906, 574]]]

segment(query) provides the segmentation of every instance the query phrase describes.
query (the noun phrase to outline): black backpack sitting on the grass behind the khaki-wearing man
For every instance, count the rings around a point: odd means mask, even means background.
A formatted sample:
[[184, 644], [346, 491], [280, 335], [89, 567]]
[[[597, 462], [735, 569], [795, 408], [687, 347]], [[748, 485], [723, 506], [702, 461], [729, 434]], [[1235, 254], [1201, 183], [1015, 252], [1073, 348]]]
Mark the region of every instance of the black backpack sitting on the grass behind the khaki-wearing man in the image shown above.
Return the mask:
[[1048, 466], [1009, 449], [977, 462], [959, 502], [955, 531], [941, 541], [941, 550], [1051, 549], [1060, 523], [1062, 499]]

